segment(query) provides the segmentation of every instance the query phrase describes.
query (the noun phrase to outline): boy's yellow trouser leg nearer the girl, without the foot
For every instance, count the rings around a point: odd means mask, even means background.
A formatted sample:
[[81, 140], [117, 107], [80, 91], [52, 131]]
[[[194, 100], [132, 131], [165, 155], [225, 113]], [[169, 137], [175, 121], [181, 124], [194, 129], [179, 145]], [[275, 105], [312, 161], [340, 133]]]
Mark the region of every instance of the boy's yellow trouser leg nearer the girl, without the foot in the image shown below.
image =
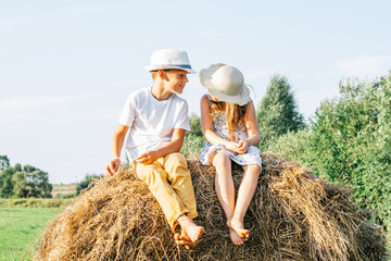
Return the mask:
[[171, 153], [157, 161], [162, 163], [163, 169], [167, 173], [172, 188], [189, 211], [188, 216], [190, 219], [198, 216], [194, 188], [185, 156], [179, 152]]

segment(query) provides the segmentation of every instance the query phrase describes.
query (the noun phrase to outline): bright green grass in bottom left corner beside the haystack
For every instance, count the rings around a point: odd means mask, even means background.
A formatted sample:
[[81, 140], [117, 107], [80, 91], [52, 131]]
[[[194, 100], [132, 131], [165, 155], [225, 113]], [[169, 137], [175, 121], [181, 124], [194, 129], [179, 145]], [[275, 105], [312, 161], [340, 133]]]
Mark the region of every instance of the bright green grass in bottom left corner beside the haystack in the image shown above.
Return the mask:
[[62, 209], [0, 208], [0, 260], [31, 260], [34, 244]]

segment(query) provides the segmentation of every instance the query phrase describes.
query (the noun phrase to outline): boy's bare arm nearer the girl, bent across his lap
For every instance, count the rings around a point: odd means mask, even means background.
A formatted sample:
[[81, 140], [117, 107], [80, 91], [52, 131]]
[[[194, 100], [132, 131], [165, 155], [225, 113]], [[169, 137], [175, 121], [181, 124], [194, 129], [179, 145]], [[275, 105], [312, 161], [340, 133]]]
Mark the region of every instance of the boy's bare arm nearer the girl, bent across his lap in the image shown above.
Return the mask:
[[156, 150], [150, 150], [140, 154], [136, 161], [143, 164], [151, 164], [159, 158], [165, 157], [173, 152], [179, 152], [184, 144], [186, 130], [182, 128], [174, 128], [172, 140]]

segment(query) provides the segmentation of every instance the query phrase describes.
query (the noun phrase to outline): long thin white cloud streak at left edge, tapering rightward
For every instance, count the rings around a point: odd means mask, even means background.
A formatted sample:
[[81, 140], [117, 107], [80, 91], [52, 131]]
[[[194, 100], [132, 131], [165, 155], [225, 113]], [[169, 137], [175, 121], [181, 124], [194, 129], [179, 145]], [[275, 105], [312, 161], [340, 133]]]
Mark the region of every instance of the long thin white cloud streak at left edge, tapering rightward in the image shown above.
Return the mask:
[[77, 96], [11, 97], [8, 99], [0, 100], [0, 113], [54, 107], [72, 101], [90, 99], [99, 95], [100, 95], [99, 92], [89, 92]]

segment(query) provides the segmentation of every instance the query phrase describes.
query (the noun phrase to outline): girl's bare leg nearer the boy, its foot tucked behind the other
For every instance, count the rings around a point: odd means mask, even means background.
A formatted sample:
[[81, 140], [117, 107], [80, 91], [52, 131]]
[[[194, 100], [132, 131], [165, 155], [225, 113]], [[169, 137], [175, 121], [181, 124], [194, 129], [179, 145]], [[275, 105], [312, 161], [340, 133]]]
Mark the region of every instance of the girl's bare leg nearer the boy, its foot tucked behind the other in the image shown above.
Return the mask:
[[[210, 162], [216, 167], [216, 194], [227, 216], [228, 224], [235, 211], [235, 186], [231, 174], [231, 160], [226, 153], [217, 152], [211, 156]], [[229, 234], [235, 245], [243, 244], [243, 240], [232, 228], [229, 228]]]

